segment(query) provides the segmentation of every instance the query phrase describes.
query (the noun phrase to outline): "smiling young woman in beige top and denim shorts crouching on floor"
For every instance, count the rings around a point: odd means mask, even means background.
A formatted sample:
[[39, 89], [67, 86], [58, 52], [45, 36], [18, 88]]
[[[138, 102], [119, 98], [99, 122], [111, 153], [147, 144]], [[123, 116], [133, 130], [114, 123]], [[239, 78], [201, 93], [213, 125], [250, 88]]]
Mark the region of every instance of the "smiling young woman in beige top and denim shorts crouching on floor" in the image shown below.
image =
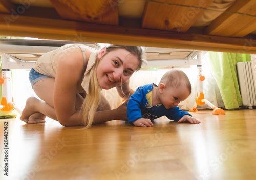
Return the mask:
[[42, 55], [29, 79], [37, 96], [26, 102], [20, 119], [26, 123], [45, 122], [46, 116], [63, 126], [85, 125], [110, 120], [127, 120], [126, 104], [111, 110], [101, 89], [117, 88], [123, 99], [134, 91], [129, 78], [143, 60], [142, 47], [110, 45], [99, 51], [67, 44]]

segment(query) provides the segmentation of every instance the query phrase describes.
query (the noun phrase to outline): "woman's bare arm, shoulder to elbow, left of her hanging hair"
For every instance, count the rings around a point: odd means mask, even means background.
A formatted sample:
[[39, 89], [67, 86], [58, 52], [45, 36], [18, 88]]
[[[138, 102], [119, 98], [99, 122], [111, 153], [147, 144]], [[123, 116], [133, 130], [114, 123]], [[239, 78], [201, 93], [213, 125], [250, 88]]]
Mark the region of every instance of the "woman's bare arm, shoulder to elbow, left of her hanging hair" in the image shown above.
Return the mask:
[[80, 110], [76, 110], [76, 88], [81, 82], [83, 56], [79, 47], [63, 54], [57, 59], [53, 103], [57, 120], [63, 126], [82, 125]]

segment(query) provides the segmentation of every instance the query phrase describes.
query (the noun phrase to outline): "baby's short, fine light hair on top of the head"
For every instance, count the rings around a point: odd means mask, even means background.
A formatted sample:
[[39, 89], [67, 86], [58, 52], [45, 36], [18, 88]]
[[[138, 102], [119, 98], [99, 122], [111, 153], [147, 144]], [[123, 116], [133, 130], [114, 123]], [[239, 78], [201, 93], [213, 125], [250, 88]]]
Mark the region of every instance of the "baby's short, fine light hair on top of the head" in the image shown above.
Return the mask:
[[182, 83], [185, 83], [189, 95], [191, 94], [192, 87], [187, 75], [178, 69], [172, 69], [167, 71], [160, 80], [160, 83], [164, 83], [166, 86], [179, 87]]

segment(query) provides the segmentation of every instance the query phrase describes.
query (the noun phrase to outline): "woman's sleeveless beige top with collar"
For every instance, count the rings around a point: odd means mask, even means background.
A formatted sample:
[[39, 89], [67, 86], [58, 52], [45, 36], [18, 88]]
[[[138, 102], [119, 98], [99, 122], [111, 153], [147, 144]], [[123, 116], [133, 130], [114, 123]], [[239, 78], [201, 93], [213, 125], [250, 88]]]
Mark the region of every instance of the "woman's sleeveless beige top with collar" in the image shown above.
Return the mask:
[[[33, 65], [33, 69], [35, 71], [37, 71], [38, 73], [50, 76], [52, 78], [56, 77], [56, 66], [55, 66], [55, 58], [57, 57], [57, 55], [62, 52], [63, 50], [66, 50], [68, 48], [72, 48], [72, 47], [79, 47], [82, 51], [82, 55], [83, 55], [83, 72], [84, 72], [84, 76], [83, 76], [83, 80], [81, 83], [81, 86], [83, 87], [84, 91], [86, 91], [86, 93], [88, 94], [88, 89], [89, 89], [89, 81], [91, 78], [91, 69], [95, 64], [95, 60], [96, 60], [96, 55], [97, 55], [97, 51], [95, 50], [95, 52], [92, 52], [89, 60], [87, 62], [87, 66], [86, 66], [86, 53], [84, 48], [88, 48], [88, 46], [83, 45], [83, 44], [66, 44], [62, 47], [57, 48], [56, 50], [50, 51], [45, 53], [44, 55], [42, 55]], [[90, 47], [91, 48], [91, 47]], [[72, 53], [72, 49], [70, 50], [70, 53]]]

